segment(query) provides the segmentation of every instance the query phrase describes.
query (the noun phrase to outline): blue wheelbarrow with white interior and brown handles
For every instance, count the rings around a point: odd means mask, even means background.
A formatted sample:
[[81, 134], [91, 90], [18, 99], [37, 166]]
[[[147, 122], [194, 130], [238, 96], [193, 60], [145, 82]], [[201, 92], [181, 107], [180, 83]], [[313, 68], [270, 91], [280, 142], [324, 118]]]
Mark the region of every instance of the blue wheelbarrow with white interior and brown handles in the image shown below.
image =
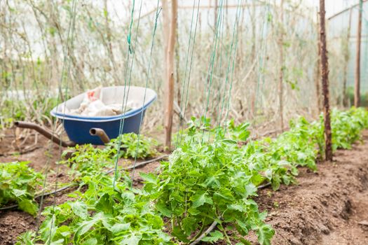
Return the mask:
[[[16, 122], [15, 125], [36, 130], [64, 147], [75, 146], [76, 144], [103, 145], [109, 142], [109, 139], [118, 137], [121, 127], [123, 134], [138, 133], [146, 109], [157, 97], [154, 90], [135, 86], [102, 87], [101, 92], [104, 104], [122, 104], [124, 100], [127, 104], [134, 104], [134, 106], [130, 111], [125, 111], [125, 113], [116, 116], [79, 116], [68, 113], [79, 108], [86, 92], [57, 105], [50, 113], [62, 121], [70, 141], [62, 141], [62, 139], [35, 123]], [[128, 97], [125, 95], [124, 98], [124, 94], [128, 94]], [[125, 105], [122, 105], [122, 109], [124, 107]]]

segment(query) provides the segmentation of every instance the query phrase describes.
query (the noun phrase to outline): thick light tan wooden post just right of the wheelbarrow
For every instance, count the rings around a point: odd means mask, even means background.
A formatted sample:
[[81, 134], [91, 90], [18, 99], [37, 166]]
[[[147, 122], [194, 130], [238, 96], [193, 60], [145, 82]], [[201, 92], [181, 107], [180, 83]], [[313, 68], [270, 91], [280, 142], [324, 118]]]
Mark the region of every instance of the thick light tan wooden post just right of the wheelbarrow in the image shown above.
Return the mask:
[[165, 146], [170, 150], [172, 116], [174, 112], [174, 56], [177, 31], [177, 0], [171, 2], [170, 34], [167, 49], [167, 72], [165, 79]]

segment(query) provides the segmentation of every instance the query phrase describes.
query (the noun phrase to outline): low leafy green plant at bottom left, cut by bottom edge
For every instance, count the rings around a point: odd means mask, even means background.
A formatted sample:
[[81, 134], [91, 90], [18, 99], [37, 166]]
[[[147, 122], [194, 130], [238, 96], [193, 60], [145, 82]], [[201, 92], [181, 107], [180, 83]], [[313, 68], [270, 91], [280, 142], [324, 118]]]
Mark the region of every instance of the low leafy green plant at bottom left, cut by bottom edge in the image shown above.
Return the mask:
[[129, 179], [116, 183], [110, 176], [86, 176], [88, 189], [71, 195], [75, 201], [46, 207], [39, 234], [27, 232], [17, 244], [174, 244], [163, 232], [163, 220]]

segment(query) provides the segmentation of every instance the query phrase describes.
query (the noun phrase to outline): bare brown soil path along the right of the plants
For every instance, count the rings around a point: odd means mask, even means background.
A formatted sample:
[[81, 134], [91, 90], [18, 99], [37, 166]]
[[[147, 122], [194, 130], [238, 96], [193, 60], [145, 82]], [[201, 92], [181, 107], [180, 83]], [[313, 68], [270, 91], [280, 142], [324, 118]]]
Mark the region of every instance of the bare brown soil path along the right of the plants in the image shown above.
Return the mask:
[[317, 173], [299, 171], [297, 185], [261, 190], [256, 200], [275, 229], [272, 244], [368, 244], [368, 132]]

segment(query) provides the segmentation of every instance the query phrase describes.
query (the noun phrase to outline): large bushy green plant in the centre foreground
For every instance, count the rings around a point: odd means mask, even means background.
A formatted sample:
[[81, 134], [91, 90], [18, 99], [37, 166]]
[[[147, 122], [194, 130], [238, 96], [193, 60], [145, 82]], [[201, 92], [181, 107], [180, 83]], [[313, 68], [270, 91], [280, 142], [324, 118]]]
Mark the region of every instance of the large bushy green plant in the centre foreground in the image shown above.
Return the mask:
[[[257, 187], [250, 169], [239, 164], [236, 139], [247, 139], [248, 125], [235, 127], [230, 123], [226, 133], [220, 127], [210, 130], [203, 122], [198, 125], [198, 120], [192, 121], [182, 145], [170, 155], [169, 162], [162, 163], [159, 176], [141, 174], [146, 181], [143, 193], [170, 218], [172, 235], [180, 241], [196, 239], [193, 232], [217, 221], [221, 232], [207, 237], [207, 241], [226, 238], [230, 242], [228, 230], [238, 232], [233, 232], [233, 239], [240, 239], [235, 234], [244, 236], [255, 230], [259, 242], [269, 244], [274, 231], [264, 223], [266, 213], [259, 213], [252, 200]], [[208, 141], [203, 141], [205, 134]]]

